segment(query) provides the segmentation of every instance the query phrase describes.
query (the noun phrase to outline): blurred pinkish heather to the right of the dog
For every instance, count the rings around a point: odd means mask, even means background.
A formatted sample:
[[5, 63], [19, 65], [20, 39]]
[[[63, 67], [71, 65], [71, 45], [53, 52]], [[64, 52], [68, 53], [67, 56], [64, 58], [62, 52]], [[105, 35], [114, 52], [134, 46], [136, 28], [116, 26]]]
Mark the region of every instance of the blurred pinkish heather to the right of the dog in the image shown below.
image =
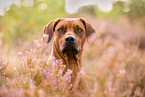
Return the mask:
[[145, 51], [108, 36], [90, 48], [84, 51], [84, 69], [91, 64], [86, 69], [91, 97], [144, 97]]

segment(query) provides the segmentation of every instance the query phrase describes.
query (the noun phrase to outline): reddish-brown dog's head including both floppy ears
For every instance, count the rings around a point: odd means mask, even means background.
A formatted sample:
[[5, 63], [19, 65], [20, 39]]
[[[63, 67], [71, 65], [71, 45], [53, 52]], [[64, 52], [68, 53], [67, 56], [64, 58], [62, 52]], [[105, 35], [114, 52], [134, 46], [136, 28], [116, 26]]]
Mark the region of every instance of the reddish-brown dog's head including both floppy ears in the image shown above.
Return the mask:
[[86, 37], [89, 37], [95, 30], [83, 18], [61, 18], [49, 22], [43, 32], [49, 35], [47, 43], [54, 35], [55, 45], [62, 54], [79, 54]]

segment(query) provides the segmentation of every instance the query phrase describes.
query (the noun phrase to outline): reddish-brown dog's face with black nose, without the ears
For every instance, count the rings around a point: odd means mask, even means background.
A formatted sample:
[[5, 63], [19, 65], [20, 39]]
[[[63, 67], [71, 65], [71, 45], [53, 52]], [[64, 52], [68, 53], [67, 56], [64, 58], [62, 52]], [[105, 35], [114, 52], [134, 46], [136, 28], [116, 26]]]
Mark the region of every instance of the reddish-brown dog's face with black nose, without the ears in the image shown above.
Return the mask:
[[55, 26], [55, 40], [60, 52], [79, 54], [85, 41], [85, 25], [76, 19], [61, 19]]

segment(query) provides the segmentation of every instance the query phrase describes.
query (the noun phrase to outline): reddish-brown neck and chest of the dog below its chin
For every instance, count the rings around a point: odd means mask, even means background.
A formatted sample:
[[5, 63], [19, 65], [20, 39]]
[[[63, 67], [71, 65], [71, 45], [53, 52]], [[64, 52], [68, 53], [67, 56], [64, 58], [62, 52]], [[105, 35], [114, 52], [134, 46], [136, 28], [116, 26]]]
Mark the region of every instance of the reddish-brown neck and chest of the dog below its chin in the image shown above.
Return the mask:
[[58, 47], [56, 47], [56, 44], [54, 41], [52, 55], [56, 58], [56, 60], [62, 60], [63, 65], [66, 65], [64, 73], [67, 71], [67, 69], [70, 69], [73, 71], [72, 82], [74, 82], [77, 77], [78, 72], [82, 68], [82, 51], [77, 55], [74, 53], [62, 54], [60, 50], [58, 49]]

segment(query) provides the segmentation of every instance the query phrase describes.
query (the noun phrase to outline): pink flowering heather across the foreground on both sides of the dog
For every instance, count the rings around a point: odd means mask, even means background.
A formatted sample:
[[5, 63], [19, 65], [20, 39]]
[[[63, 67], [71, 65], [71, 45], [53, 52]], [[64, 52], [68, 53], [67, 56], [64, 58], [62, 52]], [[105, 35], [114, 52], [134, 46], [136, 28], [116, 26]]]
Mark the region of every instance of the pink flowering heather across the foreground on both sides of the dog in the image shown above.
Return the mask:
[[[68, 69], [63, 75], [65, 65], [55, 58], [47, 63], [49, 48], [34, 40], [33, 49], [18, 52], [21, 68], [14, 68], [13, 78], [5, 76], [7, 63], [0, 59], [0, 96], [67, 97], [72, 71]], [[145, 51], [136, 45], [124, 46], [111, 37], [100, 38], [84, 48], [85, 73], [80, 71], [78, 77], [85, 80], [89, 97], [144, 97]], [[79, 97], [86, 97], [85, 93], [74, 91]]]

